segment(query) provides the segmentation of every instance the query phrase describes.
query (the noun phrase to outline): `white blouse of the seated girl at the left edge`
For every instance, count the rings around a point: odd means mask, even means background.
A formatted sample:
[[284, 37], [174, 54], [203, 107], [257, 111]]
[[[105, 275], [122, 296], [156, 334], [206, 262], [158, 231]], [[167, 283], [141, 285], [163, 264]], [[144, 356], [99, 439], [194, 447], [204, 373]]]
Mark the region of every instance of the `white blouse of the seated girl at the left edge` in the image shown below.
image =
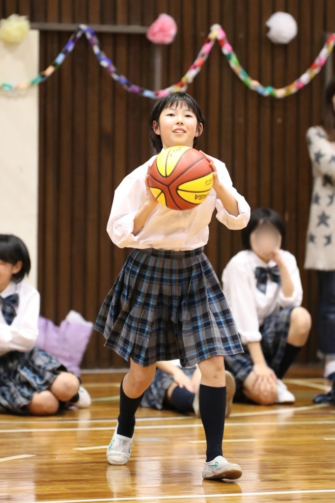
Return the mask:
[[13, 293], [19, 295], [19, 306], [11, 325], [6, 323], [0, 307], [0, 356], [9, 351], [30, 351], [38, 336], [40, 294], [27, 283], [11, 282], [0, 295], [5, 298]]

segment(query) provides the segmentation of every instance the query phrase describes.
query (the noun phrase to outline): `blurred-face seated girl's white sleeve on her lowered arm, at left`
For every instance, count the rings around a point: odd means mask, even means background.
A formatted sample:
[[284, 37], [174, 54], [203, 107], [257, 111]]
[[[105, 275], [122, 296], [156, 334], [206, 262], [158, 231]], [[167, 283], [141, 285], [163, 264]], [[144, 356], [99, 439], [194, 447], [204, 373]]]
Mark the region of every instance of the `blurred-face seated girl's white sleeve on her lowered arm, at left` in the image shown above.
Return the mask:
[[222, 286], [242, 344], [261, 341], [256, 300], [248, 271], [236, 259], [232, 259], [224, 269]]

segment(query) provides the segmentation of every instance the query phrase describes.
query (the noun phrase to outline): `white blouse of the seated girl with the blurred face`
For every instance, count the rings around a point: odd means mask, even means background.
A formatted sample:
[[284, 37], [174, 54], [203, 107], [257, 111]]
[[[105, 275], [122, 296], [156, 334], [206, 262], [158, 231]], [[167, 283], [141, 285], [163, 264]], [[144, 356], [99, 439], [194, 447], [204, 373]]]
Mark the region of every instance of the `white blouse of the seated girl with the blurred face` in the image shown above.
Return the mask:
[[262, 339], [260, 326], [267, 316], [284, 307], [301, 305], [302, 286], [295, 257], [285, 250], [280, 254], [294, 285], [291, 297], [285, 297], [282, 287], [269, 279], [265, 294], [257, 288], [256, 268], [275, 267], [276, 263], [263, 262], [252, 250], [240, 251], [222, 273], [223, 292], [243, 344]]

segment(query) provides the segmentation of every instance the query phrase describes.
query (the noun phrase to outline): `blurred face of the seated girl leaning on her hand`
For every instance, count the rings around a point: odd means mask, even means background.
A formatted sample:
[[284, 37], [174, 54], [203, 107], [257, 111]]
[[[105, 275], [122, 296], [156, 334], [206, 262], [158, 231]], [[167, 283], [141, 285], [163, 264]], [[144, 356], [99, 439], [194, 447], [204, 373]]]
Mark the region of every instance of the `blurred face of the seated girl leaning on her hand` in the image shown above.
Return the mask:
[[260, 223], [250, 234], [250, 246], [264, 262], [269, 262], [271, 254], [273, 251], [278, 251], [281, 244], [281, 233], [271, 223]]

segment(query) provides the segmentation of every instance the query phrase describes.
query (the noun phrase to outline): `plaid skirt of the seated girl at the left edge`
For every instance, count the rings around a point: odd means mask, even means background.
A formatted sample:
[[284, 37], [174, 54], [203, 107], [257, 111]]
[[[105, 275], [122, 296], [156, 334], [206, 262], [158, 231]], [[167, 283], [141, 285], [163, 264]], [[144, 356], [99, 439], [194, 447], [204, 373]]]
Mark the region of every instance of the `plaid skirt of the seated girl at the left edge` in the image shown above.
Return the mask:
[[66, 372], [66, 368], [39, 348], [1, 356], [0, 411], [28, 415], [33, 394], [48, 389], [60, 372]]

